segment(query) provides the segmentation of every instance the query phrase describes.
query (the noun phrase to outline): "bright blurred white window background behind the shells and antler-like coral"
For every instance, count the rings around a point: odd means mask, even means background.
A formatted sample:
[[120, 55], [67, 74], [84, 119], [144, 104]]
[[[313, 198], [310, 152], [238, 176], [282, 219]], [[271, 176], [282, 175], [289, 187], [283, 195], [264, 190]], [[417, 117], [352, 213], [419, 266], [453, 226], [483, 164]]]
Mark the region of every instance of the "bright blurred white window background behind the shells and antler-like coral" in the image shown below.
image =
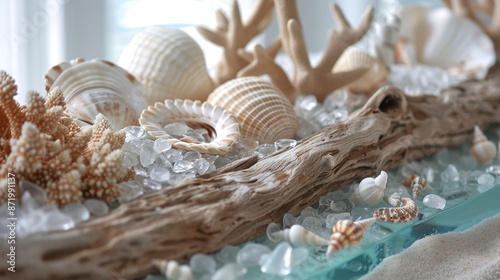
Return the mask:
[[[121, 50], [142, 28], [165, 25], [191, 34], [205, 52], [210, 69], [221, 49], [204, 40], [193, 26], [214, 27], [216, 8], [229, 11], [232, 0], [0, 0], [0, 69], [17, 81], [17, 100], [25, 103], [28, 90], [44, 91], [43, 75], [55, 64], [82, 57], [118, 61]], [[255, 0], [238, 0], [243, 19]], [[298, 0], [310, 52], [321, 52], [328, 31], [335, 28], [331, 5], [337, 2], [347, 19], [357, 24], [368, 5], [377, 18], [410, 3], [439, 5], [438, 0]], [[274, 21], [254, 40], [267, 45], [278, 34]]]

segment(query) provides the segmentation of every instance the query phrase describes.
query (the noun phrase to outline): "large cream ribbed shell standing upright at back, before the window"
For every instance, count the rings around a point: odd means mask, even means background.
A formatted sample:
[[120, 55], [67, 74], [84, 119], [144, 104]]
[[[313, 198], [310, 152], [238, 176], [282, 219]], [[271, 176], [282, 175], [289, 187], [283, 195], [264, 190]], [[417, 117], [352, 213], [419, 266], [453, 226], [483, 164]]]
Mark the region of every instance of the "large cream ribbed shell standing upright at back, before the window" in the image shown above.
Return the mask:
[[180, 29], [141, 30], [123, 49], [118, 65], [143, 84], [147, 105], [165, 99], [205, 101], [215, 87], [200, 46]]

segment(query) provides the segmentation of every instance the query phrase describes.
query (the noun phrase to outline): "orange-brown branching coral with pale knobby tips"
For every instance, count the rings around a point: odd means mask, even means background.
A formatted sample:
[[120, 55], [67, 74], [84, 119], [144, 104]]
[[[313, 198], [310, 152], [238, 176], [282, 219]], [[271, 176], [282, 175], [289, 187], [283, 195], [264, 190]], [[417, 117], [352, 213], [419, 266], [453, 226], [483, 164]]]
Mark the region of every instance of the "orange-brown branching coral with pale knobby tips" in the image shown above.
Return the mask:
[[[82, 198], [116, 199], [121, 194], [117, 184], [130, 177], [121, 166], [124, 133], [113, 132], [102, 115], [92, 130], [80, 130], [64, 114], [58, 88], [47, 98], [31, 92], [26, 106], [15, 101], [16, 94], [14, 80], [0, 71], [0, 178], [12, 173], [32, 181], [58, 206]], [[0, 198], [7, 198], [7, 184], [0, 184]]]

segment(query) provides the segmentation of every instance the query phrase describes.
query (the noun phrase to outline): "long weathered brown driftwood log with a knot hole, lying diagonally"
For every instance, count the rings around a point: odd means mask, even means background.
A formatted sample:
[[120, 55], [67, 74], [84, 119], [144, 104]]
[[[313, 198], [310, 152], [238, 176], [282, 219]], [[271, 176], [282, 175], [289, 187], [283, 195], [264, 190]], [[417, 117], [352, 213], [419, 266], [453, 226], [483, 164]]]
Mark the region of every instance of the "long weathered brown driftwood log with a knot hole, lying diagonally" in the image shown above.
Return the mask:
[[16, 273], [2, 262], [0, 276], [144, 275], [152, 259], [183, 259], [247, 241], [328, 191], [469, 141], [475, 124], [498, 122], [498, 81], [463, 83], [439, 97], [406, 97], [386, 87], [347, 121], [295, 148], [149, 193], [69, 231], [18, 240]]

